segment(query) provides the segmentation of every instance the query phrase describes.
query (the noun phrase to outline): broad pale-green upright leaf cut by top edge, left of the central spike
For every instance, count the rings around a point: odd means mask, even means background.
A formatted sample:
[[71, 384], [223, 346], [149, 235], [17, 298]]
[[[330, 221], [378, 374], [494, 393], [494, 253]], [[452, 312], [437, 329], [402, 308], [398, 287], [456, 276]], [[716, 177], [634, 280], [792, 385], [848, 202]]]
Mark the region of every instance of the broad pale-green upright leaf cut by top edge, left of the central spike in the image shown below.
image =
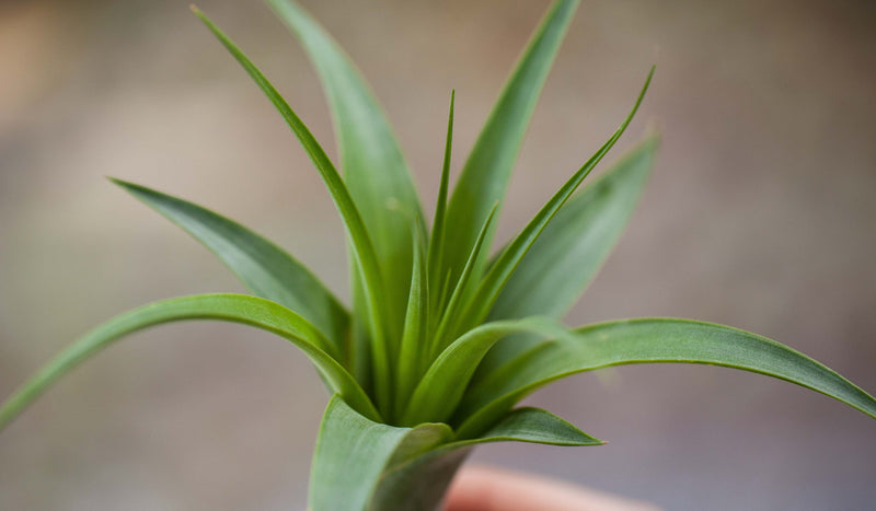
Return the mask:
[[417, 191], [399, 143], [361, 74], [331, 35], [300, 5], [269, 0], [298, 36], [334, 117], [341, 169], [384, 268], [391, 336], [401, 333], [411, 275], [411, 223], [425, 234]]

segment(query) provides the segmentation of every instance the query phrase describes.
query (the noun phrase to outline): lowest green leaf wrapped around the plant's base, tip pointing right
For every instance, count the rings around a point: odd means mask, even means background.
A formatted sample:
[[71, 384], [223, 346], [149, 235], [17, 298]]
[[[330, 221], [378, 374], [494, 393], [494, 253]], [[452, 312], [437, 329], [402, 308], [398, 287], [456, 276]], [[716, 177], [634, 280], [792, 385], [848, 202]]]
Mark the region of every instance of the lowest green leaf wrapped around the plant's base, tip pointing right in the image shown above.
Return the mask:
[[446, 425], [395, 428], [377, 423], [335, 396], [325, 410], [313, 454], [310, 508], [313, 511], [438, 509], [471, 449], [480, 443], [505, 441], [552, 445], [602, 443], [538, 408], [511, 410], [487, 433], [452, 441], [452, 432]]

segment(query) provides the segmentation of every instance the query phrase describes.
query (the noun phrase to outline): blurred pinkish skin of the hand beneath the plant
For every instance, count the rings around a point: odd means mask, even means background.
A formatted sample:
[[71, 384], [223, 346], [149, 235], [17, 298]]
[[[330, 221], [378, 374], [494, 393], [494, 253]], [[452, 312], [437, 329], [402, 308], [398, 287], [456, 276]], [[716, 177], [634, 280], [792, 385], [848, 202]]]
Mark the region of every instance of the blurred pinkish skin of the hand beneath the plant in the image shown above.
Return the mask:
[[624, 497], [530, 474], [474, 466], [450, 487], [447, 511], [655, 511]]

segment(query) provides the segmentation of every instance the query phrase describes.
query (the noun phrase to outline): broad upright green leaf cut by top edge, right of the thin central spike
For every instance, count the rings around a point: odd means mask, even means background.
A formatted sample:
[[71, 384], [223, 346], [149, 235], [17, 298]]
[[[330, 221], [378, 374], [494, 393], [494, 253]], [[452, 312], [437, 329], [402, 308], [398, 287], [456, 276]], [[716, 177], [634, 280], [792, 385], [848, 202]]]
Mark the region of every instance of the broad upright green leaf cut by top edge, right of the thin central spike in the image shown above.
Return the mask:
[[[505, 197], [511, 171], [542, 85], [578, 0], [557, 0], [535, 30], [484, 125], [447, 209], [443, 264], [456, 278], [494, 204]], [[491, 246], [492, 233], [486, 246]], [[485, 257], [479, 259], [480, 278]]]

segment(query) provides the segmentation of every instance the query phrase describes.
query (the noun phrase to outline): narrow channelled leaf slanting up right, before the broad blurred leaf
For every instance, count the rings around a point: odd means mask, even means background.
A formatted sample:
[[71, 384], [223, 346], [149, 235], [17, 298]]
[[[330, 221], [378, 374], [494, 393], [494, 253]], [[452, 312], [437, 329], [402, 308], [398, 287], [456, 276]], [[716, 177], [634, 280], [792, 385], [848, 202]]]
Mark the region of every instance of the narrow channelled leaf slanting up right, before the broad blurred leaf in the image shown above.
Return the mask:
[[[560, 190], [551, 197], [551, 200], [542, 207], [542, 209], [535, 214], [535, 217], [527, 224], [523, 231], [518, 234], [514, 241], [502, 252], [498, 256], [496, 262], [489, 267], [489, 271], [487, 271], [486, 277], [477, 287], [477, 290], [469, 300], [469, 304], [466, 304], [464, 311], [464, 317], [462, 320], [462, 327], [470, 328], [473, 325], [477, 325], [486, 318], [489, 310], [493, 307], [493, 304], [496, 302], [499, 292], [505, 287], [505, 283], [514, 274], [517, 266], [520, 264], [520, 260], [523, 256], [527, 255], [529, 248], [539, 239], [539, 235], [544, 230], [544, 228], [550, 223], [551, 219], [554, 218], [556, 212], [563, 205], [572, 197], [572, 194], [575, 193], [577, 187], [584, 182], [584, 178], [590, 174], [590, 171], [602, 160], [602, 158], [611, 150], [618, 139], [621, 138], [626, 127], [630, 125], [630, 121], [633, 120], [633, 116], [635, 116], [636, 112], [638, 111], [638, 106], [642, 104], [642, 100], [645, 97], [645, 93], [648, 90], [648, 85], [650, 84], [650, 79], [654, 77], [654, 68], [650, 69], [648, 73], [648, 78], [645, 80], [645, 85], [642, 88], [642, 92], [638, 94], [636, 98], [635, 105], [633, 105], [633, 109], [630, 111], [630, 114], [623, 120], [621, 126], [618, 128], [616, 131], [609, 138], [609, 140], [593, 154], [590, 156], [590, 160], [581, 166], [578, 172], [576, 172], [561, 188]], [[452, 332], [452, 330], [451, 330]]]

